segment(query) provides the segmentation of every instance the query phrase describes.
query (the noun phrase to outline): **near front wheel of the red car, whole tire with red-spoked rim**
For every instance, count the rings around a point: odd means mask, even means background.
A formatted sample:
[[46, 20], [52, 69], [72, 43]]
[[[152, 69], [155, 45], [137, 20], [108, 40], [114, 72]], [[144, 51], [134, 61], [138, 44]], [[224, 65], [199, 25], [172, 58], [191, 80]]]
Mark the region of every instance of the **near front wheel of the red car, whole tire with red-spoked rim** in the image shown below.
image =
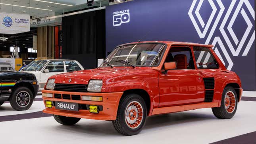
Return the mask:
[[145, 124], [147, 115], [146, 104], [138, 94], [128, 94], [121, 98], [117, 117], [112, 121], [115, 130], [130, 136], [138, 134]]

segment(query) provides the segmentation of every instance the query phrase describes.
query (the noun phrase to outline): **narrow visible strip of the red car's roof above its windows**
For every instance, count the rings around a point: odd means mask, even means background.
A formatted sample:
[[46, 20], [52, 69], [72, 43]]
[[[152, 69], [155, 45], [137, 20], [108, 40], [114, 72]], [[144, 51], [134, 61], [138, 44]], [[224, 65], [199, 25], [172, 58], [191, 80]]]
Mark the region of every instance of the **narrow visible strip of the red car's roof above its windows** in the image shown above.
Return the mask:
[[174, 46], [200, 46], [200, 47], [206, 47], [206, 48], [212, 48], [213, 45], [210, 44], [198, 44], [193, 42], [175, 42], [175, 41], [143, 41], [143, 42], [131, 42], [127, 44], [121, 44], [119, 46], [123, 45], [129, 45], [129, 44], [143, 44], [143, 43], [163, 43], [163, 44], [170, 44]]

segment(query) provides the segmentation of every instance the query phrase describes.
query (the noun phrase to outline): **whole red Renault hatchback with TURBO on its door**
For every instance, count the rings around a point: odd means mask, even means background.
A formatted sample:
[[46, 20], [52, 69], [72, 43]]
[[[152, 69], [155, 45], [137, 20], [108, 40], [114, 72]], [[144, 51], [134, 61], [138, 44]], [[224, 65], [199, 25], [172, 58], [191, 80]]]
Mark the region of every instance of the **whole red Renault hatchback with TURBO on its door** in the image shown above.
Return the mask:
[[212, 108], [216, 117], [230, 119], [243, 89], [212, 47], [165, 41], [117, 46], [96, 69], [50, 77], [43, 112], [63, 125], [110, 120], [124, 135], [138, 134], [147, 116], [162, 113]]

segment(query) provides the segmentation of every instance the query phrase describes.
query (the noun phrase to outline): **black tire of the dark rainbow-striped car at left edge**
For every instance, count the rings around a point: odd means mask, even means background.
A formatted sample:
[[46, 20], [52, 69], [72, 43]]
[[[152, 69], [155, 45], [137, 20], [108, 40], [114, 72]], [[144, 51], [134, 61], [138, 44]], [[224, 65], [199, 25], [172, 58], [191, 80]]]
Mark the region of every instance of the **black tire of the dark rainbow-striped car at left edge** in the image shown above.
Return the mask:
[[[29, 98], [29, 101], [24, 102], [23, 106], [22, 106], [22, 104], [20, 104], [21, 100], [18, 98], [21, 95], [24, 95], [25, 98]], [[24, 87], [24, 86], [15, 88], [10, 97], [10, 104], [11, 104], [12, 108], [17, 111], [23, 111], [23, 110], [29, 109], [31, 107], [31, 105], [33, 104], [33, 101], [34, 101], [33, 93], [31, 92], [31, 90], [29, 88]]]

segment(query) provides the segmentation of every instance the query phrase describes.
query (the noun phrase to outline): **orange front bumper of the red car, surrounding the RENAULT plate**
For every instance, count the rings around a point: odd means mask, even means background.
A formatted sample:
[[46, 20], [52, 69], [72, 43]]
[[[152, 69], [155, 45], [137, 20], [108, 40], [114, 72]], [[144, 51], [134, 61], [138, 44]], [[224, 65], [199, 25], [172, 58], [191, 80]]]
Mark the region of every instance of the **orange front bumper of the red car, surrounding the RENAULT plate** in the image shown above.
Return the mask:
[[85, 101], [85, 100], [66, 100], [66, 99], [59, 99], [59, 98], [48, 98], [43, 97], [44, 105], [46, 100], [52, 102], [72, 102], [78, 104], [87, 104], [87, 105], [98, 105], [102, 106], [102, 111], [99, 113], [90, 113], [89, 110], [79, 109], [79, 111], [67, 111], [56, 109], [54, 106], [52, 108], [46, 108], [43, 110], [44, 113], [49, 113], [53, 115], [62, 115], [67, 117], [78, 117], [78, 118], [85, 118], [85, 119], [97, 119], [97, 120], [115, 120], [117, 109], [119, 105], [119, 100], [123, 94], [123, 92], [64, 92], [64, 91], [54, 91], [54, 90], [42, 90], [42, 93], [52, 93], [52, 94], [68, 94], [68, 95], [80, 95], [80, 96], [102, 96], [102, 102], [96, 101]]

